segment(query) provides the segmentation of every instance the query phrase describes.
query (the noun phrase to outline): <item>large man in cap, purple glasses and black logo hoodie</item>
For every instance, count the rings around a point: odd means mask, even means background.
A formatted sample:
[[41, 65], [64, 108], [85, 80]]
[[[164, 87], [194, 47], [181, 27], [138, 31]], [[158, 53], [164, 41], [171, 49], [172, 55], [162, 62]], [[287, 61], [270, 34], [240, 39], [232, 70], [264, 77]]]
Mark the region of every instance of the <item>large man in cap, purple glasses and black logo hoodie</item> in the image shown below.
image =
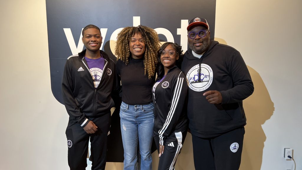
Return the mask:
[[189, 22], [182, 71], [188, 83], [188, 118], [195, 169], [236, 170], [246, 116], [242, 101], [254, 91], [239, 51], [210, 41], [204, 18]]

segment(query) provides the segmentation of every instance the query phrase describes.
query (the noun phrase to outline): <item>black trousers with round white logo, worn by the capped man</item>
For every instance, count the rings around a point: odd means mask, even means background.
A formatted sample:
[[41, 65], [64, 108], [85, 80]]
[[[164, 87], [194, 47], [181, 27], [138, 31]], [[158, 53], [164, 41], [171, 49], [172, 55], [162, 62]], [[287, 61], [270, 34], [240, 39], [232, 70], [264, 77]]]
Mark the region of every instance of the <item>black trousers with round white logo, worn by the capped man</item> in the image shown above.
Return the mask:
[[241, 162], [244, 127], [214, 138], [192, 134], [196, 170], [238, 170]]

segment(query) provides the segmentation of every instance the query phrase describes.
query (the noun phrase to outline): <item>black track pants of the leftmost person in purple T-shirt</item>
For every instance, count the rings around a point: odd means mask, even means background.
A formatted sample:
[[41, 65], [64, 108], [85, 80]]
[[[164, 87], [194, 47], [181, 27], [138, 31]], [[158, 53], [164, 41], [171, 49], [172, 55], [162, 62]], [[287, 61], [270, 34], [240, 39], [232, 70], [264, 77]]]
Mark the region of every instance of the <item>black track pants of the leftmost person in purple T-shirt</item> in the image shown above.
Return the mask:
[[85, 170], [87, 167], [88, 142], [91, 142], [92, 170], [105, 169], [107, 152], [107, 134], [111, 123], [111, 114], [98, 118], [88, 118], [98, 127], [94, 134], [87, 134], [79, 123], [69, 119], [66, 129], [68, 144], [68, 165], [70, 170]]

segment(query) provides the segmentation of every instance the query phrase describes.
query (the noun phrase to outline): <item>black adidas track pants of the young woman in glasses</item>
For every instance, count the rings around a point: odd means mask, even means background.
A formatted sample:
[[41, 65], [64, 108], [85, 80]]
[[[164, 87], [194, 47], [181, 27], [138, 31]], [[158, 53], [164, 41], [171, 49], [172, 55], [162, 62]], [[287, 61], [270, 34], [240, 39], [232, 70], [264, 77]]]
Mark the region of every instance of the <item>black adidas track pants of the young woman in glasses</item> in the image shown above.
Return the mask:
[[[158, 170], [175, 169], [176, 159], [182, 149], [186, 136], [187, 129], [183, 132], [173, 132], [170, 136], [167, 136], [164, 153], [159, 157]], [[159, 153], [159, 136], [156, 134], [154, 134], [154, 141]]]

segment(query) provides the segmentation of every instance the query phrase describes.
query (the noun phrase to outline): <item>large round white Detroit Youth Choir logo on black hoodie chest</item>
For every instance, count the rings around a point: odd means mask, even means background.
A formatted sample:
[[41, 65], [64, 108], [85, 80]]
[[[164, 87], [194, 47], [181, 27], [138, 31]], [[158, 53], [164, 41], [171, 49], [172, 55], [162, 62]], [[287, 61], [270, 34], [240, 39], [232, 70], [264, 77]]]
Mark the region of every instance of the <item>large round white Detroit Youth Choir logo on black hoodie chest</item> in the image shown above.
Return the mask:
[[213, 70], [207, 64], [199, 64], [192, 67], [187, 74], [187, 83], [190, 89], [194, 91], [204, 91], [210, 87], [213, 82]]

